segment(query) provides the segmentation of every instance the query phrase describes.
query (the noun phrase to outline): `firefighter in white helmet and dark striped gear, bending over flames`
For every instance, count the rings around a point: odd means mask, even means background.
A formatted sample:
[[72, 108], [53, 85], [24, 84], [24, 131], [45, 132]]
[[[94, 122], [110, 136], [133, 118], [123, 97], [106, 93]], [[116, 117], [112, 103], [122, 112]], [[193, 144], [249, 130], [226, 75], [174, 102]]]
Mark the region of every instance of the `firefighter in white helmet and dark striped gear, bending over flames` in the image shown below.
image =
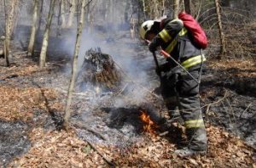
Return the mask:
[[[196, 47], [193, 37], [179, 19], [148, 20], [140, 27], [140, 36], [147, 41], [149, 51], [154, 53], [162, 48], [183, 66], [195, 79], [200, 79], [201, 65], [205, 57]], [[176, 115], [176, 108], [182, 116], [186, 128], [187, 146], [177, 149], [175, 154], [185, 157], [206, 154], [207, 132], [202, 118], [199, 82], [195, 81], [172, 59], [160, 64], [156, 73], [160, 76], [161, 95], [170, 117]]]

